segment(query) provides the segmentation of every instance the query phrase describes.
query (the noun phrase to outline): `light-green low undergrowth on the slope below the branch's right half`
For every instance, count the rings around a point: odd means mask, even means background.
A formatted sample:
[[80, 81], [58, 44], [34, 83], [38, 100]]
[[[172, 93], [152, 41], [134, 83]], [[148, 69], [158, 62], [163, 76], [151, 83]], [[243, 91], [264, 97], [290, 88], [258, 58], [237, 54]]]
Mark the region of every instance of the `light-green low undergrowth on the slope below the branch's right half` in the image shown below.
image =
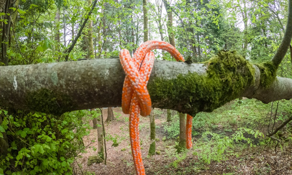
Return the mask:
[[[291, 115], [289, 111], [292, 111], [290, 100], [282, 100], [277, 103], [274, 102], [272, 107], [272, 122], [275, 120], [275, 127], [286, 120]], [[193, 148], [187, 152], [191, 152], [199, 160], [199, 162], [197, 159], [194, 160], [201, 164], [197, 165], [197, 168], [205, 167], [204, 164], [211, 162], [240, 159], [241, 155], [260, 147], [270, 146], [274, 150], [277, 142], [265, 136], [269, 125], [271, 104], [263, 104], [256, 99], [237, 99], [211, 113], [201, 112], [193, 116]], [[277, 115], [275, 116], [276, 109]], [[175, 151], [173, 146], [169, 145], [173, 144], [179, 135], [179, 120], [177, 115], [174, 115], [172, 119], [171, 122], [165, 122], [163, 125], [167, 133], [167, 141], [170, 140], [167, 148]], [[285, 129], [274, 135], [281, 140], [278, 151], [284, 151], [291, 145], [291, 132], [291, 124], [288, 124]], [[166, 153], [168, 152], [171, 151], [166, 150]], [[184, 157], [183, 155], [184, 152], [180, 154], [180, 157]], [[174, 153], [169, 155], [171, 160], [173, 157], [175, 157]], [[184, 162], [184, 160], [175, 159], [169, 167], [179, 169], [178, 162]]]

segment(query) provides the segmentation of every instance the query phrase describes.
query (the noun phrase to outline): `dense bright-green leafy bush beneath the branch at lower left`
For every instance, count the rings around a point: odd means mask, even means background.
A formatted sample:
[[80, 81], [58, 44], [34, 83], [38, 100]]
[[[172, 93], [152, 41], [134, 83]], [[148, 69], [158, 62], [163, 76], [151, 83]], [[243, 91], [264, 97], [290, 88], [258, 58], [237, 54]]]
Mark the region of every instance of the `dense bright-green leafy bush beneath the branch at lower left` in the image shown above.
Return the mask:
[[0, 174], [72, 174], [75, 158], [86, 148], [82, 138], [92, 129], [88, 111], [54, 116], [0, 110], [0, 115], [0, 139], [7, 136], [9, 144], [8, 154], [0, 155]]

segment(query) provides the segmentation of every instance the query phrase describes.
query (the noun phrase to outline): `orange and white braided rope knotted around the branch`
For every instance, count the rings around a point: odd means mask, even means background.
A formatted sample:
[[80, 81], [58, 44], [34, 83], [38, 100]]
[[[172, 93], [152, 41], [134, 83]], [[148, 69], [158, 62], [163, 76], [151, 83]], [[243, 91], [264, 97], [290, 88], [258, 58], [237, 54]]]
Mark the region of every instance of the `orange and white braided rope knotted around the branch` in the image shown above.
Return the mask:
[[[164, 41], [146, 41], [137, 48], [133, 57], [127, 49], [120, 51], [120, 62], [126, 73], [122, 93], [122, 110], [130, 114], [129, 130], [131, 150], [137, 175], [145, 174], [140, 147], [139, 116], [147, 116], [151, 112], [151, 99], [147, 83], [154, 64], [153, 49], [169, 52], [176, 61], [185, 61], [175, 47]], [[186, 147], [192, 147], [192, 116], [187, 115]]]

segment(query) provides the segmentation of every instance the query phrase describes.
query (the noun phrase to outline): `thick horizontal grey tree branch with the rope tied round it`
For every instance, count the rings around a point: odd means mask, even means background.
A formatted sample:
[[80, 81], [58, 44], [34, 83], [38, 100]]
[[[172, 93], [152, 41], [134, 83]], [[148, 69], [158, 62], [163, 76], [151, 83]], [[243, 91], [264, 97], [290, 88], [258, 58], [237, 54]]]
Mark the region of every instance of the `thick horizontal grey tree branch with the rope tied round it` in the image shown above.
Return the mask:
[[[220, 75], [219, 81], [223, 85], [228, 84], [220, 89], [221, 86], [216, 84], [218, 82], [208, 70], [212, 65], [218, 66], [212, 60], [205, 64], [155, 61], [147, 86], [152, 106], [192, 115], [199, 111], [211, 111], [238, 97], [256, 98], [264, 103], [292, 98], [292, 79], [277, 77], [265, 89], [260, 86], [260, 71], [256, 66], [253, 66], [256, 69], [254, 83], [243, 84], [238, 92], [234, 91], [233, 88], [240, 82], [235, 80], [232, 85], [227, 80], [233, 80], [247, 71], [238, 65], [240, 69], [230, 72], [231, 77]], [[118, 59], [5, 66], [0, 67], [0, 75], [0, 106], [54, 114], [121, 106], [125, 77]], [[211, 92], [212, 96], [209, 95]]]

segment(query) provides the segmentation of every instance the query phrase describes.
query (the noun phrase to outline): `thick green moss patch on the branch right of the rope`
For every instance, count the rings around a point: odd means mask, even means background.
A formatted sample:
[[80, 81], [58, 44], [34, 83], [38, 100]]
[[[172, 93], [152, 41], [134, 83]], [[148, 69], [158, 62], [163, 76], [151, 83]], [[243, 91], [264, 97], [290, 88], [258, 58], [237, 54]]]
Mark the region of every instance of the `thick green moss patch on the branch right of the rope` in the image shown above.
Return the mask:
[[149, 81], [153, 104], [159, 102], [156, 107], [176, 108], [190, 115], [211, 112], [239, 97], [254, 82], [252, 64], [236, 52], [221, 51], [204, 64], [208, 68], [205, 75], [188, 73], [171, 80], [156, 77]]

